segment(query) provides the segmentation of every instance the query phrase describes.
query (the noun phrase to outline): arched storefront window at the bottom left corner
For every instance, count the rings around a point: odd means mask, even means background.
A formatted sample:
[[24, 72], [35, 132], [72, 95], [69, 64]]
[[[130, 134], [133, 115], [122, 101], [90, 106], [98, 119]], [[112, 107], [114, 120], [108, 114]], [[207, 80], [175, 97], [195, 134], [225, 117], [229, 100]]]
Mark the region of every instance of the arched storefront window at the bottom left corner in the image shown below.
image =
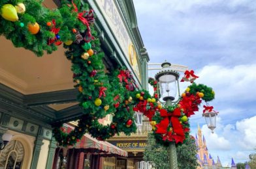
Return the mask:
[[20, 169], [24, 159], [24, 147], [18, 140], [10, 141], [0, 154], [0, 169]]

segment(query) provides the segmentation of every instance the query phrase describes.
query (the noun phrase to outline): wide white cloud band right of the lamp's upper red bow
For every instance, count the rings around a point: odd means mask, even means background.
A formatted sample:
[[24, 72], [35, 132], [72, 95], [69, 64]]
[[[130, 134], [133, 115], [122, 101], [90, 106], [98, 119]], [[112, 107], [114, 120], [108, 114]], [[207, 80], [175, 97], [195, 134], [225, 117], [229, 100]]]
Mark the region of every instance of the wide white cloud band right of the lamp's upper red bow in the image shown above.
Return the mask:
[[197, 83], [211, 86], [219, 101], [255, 100], [256, 64], [238, 65], [232, 68], [208, 65], [199, 72]]

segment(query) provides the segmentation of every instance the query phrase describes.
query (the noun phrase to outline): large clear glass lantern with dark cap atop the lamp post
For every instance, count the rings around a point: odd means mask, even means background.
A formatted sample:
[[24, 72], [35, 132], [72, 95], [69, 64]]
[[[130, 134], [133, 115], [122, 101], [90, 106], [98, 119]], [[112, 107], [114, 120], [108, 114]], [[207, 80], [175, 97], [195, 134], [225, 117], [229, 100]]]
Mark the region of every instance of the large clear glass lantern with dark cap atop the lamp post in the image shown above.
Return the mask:
[[[179, 73], [170, 68], [169, 62], [164, 62], [162, 69], [155, 75], [155, 79], [159, 82], [161, 100], [173, 101], [177, 95]], [[178, 89], [179, 90], [179, 89]]]

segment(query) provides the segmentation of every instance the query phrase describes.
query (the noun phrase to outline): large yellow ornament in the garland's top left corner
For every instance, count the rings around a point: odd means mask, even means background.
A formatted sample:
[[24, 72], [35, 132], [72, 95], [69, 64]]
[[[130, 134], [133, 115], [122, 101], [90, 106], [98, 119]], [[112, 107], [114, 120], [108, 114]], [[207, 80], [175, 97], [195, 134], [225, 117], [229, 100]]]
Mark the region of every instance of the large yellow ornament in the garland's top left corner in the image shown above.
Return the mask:
[[11, 4], [5, 4], [1, 8], [1, 16], [8, 21], [18, 21], [18, 14], [15, 7]]

